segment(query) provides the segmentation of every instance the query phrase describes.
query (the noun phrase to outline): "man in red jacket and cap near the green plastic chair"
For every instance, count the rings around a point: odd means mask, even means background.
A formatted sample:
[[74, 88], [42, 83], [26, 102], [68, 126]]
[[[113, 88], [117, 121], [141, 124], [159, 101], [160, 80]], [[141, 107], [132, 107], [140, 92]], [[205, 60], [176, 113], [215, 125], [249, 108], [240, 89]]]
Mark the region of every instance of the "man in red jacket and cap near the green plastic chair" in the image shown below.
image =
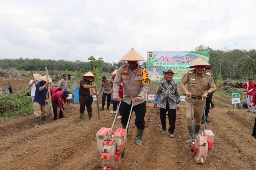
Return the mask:
[[[243, 84], [243, 88], [247, 89], [247, 92], [246, 92], [247, 105], [248, 105], [248, 111], [247, 112], [251, 112], [251, 107], [249, 106], [249, 104], [252, 101], [253, 92], [255, 90], [255, 84], [256, 83], [254, 83], [252, 81], [252, 77], [249, 77], [248, 80], [249, 80], [249, 82], [246, 82], [246, 83]], [[256, 113], [255, 106], [253, 106], [252, 108], [253, 108], [253, 113]]]

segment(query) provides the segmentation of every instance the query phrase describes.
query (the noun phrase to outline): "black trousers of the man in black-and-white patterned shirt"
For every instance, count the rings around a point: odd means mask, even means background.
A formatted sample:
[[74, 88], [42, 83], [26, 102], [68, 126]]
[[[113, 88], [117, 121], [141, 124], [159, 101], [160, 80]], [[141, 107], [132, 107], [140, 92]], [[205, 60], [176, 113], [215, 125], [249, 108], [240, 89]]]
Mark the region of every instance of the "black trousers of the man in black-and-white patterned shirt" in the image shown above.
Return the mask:
[[169, 104], [166, 104], [166, 108], [160, 107], [160, 120], [162, 124], [162, 129], [166, 129], [166, 111], [168, 112], [168, 121], [169, 121], [169, 129], [168, 132], [173, 134], [175, 129], [175, 122], [176, 122], [176, 109], [170, 109]]

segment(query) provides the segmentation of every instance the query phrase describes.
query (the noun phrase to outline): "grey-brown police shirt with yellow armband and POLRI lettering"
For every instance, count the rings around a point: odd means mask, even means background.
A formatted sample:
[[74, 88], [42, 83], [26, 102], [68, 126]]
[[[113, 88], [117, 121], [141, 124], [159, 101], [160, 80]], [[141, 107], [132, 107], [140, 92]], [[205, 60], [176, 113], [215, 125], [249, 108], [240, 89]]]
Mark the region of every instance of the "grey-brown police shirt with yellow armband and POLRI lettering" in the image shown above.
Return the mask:
[[[133, 71], [129, 68], [129, 65], [123, 65], [116, 73], [113, 83], [113, 94], [118, 96], [120, 82], [123, 82], [123, 98], [134, 99], [137, 96], [143, 99], [139, 102], [134, 102], [134, 106], [146, 101], [146, 93], [148, 92], [150, 79], [148, 72], [145, 68], [138, 65]], [[131, 101], [124, 100], [127, 104], [131, 104]]]

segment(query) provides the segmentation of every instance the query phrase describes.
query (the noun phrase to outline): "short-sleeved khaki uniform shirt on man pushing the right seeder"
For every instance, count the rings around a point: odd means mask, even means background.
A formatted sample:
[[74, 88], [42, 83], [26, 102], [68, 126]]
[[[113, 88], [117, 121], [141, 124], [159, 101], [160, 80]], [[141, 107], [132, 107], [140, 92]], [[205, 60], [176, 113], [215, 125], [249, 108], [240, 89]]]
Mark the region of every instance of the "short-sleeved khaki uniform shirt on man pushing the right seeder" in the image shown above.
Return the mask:
[[188, 91], [194, 95], [203, 95], [207, 87], [216, 87], [210, 73], [203, 71], [199, 77], [196, 70], [189, 70], [180, 80], [183, 84], [188, 83]]

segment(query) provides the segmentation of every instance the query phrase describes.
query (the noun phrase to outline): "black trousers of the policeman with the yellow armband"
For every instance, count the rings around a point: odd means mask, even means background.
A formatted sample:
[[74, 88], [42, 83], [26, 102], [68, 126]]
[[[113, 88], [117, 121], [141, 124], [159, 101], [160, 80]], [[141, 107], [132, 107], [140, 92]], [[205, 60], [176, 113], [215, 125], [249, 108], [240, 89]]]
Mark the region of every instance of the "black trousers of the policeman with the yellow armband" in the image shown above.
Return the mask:
[[[121, 117], [121, 124], [126, 125], [128, 122], [129, 114], [131, 111], [132, 107], [132, 102], [131, 104], [127, 104], [126, 102], [122, 102], [123, 107], [122, 107], [122, 117]], [[146, 113], [146, 101], [138, 104], [136, 106], [132, 107], [132, 112], [135, 112], [135, 125], [138, 129], [143, 130], [145, 129], [145, 113]], [[166, 112], [165, 112], [166, 113]], [[132, 117], [132, 116], [131, 116]]]

